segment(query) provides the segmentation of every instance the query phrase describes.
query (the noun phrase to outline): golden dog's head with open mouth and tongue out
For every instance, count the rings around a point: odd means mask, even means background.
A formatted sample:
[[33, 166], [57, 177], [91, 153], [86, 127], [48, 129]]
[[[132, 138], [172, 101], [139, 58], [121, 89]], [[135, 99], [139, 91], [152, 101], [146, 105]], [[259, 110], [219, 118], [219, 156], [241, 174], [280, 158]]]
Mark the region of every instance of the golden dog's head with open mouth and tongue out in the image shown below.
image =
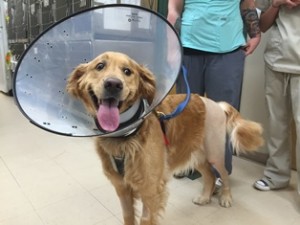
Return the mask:
[[71, 73], [67, 91], [83, 101], [105, 131], [119, 126], [119, 115], [139, 99], [152, 103], [154, 75], [127, 55], [105, 52]]

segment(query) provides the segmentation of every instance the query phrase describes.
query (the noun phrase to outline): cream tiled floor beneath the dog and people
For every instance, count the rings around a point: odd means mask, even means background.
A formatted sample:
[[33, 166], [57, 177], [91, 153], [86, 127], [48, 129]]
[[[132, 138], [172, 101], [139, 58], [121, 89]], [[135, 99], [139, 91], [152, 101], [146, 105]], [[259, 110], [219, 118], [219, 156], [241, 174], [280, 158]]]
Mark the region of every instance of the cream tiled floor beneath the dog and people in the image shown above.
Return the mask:
[[[295, 174], [286, 190], [259, 192], [263, 167], [234, 158], [234, 205], [196, 206], [201, 179], [172, 180], [163, 224], [298, 225]], [[0, 225], [120, 225], [121, 209], [89, 138], [69, 138], [30, 124], [0, 93]]]

